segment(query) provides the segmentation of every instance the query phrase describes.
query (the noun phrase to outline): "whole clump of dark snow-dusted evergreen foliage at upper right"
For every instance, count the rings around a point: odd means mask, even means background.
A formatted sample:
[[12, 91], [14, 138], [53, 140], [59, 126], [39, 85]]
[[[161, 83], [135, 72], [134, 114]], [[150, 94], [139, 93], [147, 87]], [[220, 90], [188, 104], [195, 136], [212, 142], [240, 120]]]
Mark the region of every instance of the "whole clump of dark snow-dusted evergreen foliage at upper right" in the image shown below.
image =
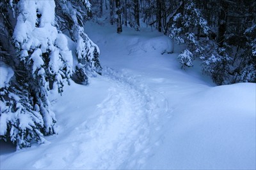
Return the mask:
[[[240, 26], [232, 22], [234, 18], [238, 18], [239, 24], [243, 24], [245, 20], [255, 23], [253, 17], [239, 17], [242, 15], [241, 11], [248, 12], [246, 11], [248, 4], [238, 1], [215, 3], [221, 7], [217, 16], [219, 20], [215, 23], [210, 21], [212, 25], [209, 25], [202, 12], [204, 8], [199, 9], [200, 1], [196, 2], [182, 1], [184, 4], [180, 5], [180, 12], [173, 17], [170, 37], [178, 44], [186, 45], [187, 48], [178, 57], [180, 64], [190, 67], [193, 66], [192, 61], [199, 58], [202, 60], [202, 71], [210, 75], [218, 85], [255, 82], [254, 24], [251, 27], [249, 24], [249, 28], [246, 29], [246, 24]], [[209, 6], [211, 3], [209, 2]], [[252, 16], [255, 17], [253, 13]], [[216, 30], [214, 28], [216, 24], [218, 24], [218, 32], [215, 33], [213, 30]], [[217, 38], [216, 34], [218, 34]]]

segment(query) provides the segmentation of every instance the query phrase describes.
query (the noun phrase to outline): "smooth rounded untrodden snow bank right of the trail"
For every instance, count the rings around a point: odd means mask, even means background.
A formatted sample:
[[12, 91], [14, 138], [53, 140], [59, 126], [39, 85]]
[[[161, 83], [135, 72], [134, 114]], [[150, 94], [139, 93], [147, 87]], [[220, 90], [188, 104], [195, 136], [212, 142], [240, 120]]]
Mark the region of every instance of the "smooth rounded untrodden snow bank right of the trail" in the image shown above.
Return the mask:
[[186, 97], [146, 169], [255, 169], [255, 83]]

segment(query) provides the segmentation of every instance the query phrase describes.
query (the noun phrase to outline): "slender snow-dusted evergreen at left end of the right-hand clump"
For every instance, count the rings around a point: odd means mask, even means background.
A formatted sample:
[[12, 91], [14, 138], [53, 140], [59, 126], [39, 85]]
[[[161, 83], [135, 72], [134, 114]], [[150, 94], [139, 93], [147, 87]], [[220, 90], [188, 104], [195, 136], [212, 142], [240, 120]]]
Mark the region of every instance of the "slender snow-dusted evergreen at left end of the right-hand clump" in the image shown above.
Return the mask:
[[184, 1], [184, 9], [173, 17], [170, 38], [175, 39], [179, 45], [186, 45], [186, 50], [180, 53], [178, 60], [183, 66], [193, 66], [195, 57], [205, 57], [204, 41], [200, 35], [207, 36], [209, 27], [207, 21], [193, 0]]

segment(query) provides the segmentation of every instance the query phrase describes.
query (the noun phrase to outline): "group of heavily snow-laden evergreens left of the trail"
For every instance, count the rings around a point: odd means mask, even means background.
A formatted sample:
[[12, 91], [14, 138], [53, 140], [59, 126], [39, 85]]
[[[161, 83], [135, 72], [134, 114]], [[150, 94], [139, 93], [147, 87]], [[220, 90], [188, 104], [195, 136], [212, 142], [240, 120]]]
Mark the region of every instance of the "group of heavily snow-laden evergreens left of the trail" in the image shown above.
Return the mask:
[[[44, 135], [56, 133], [56, 118], [48, 99], [50, 90], [62, 93], [65, 81], [69, 83], [74, 73], [82, 75], [76, 77], [79, 82], [100, 74], [99, 48], [84, 33], [86, 10], [79, 6], [81, 3], [90, 8], [87, 0], [0, 3], [3, 34], [12, 37], [12, 41], [0, 40], [5, 45], [0, 44], [1, 71], [13, 73], [0, 89], [0, 135], [17, 148], [30, 146], [33, 141], [42, 143]], [[61, 4], [63, 11], [58, 11], [56, 4]], [[71, 27], [70, 35], [61, 30], [58, 14], [62, 12], [70, 17], [61, 25]], [[8, 18], [10, 13], [12, 19]], [[72, 56], [68, 36], [76, 44], [76, 56]]]

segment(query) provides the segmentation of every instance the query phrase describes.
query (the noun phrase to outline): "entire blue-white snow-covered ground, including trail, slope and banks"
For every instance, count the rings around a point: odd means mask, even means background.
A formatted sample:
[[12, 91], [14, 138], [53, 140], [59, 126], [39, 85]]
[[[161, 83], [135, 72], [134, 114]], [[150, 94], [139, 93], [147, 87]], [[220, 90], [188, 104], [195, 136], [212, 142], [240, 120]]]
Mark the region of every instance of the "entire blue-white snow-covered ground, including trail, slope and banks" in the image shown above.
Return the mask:
[[52, 94], [58, 135], [17, 152], [1, 141], [0, 169], [256, 168], [255, 83], [216, 87], [198, 64], [180, 69], [158, 32], [86, 28], [102, 76]]

